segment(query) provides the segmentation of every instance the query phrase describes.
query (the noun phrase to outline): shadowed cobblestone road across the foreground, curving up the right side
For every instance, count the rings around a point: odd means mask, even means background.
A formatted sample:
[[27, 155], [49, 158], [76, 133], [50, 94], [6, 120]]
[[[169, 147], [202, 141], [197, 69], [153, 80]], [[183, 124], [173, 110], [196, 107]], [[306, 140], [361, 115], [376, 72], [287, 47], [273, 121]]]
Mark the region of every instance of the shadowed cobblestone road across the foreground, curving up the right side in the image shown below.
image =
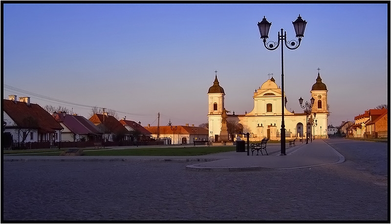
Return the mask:
[[387, 144], [338, 141], [327, 143], [346, 162], [261, 172], [192, 172], [185, 166], [194, 163], [173, 161], [4, 162], [2, 219], [390, 221], [387, 157], [374, 156], [387, 155]]

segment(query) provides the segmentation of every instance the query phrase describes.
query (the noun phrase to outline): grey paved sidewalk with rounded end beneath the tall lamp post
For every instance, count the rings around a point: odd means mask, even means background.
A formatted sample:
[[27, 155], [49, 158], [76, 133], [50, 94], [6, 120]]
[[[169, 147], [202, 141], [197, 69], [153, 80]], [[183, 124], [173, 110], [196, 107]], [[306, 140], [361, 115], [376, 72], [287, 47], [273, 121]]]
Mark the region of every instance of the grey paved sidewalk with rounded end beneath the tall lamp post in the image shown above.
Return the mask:
[[[269, 147], [267, 147], [269, 151]], [[269, 156], [247, 156], [247, 152], [225, 152], [202, 156], [113, 156], [113, 157], [60, 157], [60, 156], [3, 156], [6, 161], [196, 161], [186, 166], [193, 171], [256, 171], [265, 169], [295, 169], [345, 161], [340, 153], [322, 139], [308, 144], [286, 148], [286, 156], [280, 156], [277, 147], [270, 147]], [[256, 153], [256, 152], [255, 152]], [[260, 154], [261, 155], [261, 154]]]

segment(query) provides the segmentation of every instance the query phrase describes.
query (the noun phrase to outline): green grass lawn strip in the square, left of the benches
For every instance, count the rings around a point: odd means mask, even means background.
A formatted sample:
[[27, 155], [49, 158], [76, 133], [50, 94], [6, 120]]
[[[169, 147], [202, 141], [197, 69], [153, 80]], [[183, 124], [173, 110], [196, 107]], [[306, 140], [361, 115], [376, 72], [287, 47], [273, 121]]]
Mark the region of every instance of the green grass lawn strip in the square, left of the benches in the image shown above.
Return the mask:
[[[211, 153], [235, 151], [236, 146], [227, 147], [183, 147], [183, 148], [132, 148], [115, 150], [85, 150], [84, 156], [199, 156]], [[60, 156], [61, 152], [19, 153], [15, 156]]]

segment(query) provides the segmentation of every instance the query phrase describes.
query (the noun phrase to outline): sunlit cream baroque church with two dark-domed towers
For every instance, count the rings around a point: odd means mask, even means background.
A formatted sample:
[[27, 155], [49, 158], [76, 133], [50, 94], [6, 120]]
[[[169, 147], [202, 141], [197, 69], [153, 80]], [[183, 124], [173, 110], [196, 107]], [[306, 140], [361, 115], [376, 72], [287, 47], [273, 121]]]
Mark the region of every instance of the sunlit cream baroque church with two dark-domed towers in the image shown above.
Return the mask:
[[[224, 139], [233, 141], [239, 133], [250, 133], [250, 141], [260, 141], [264, 137], [270, 140], [280, 140], [282, 110], [284, 110], [286, 139], [305, 139], [306, 136], [326, 138], [329, 115], [327, 109], [327, 91], [326, 84], [322, 82], [318, 70], [316, 82], [309, 91], [311, 97], [315, 100], [313, 104], [308, 100], [308, 103], [312, 105], [312, 108], [308, 110], [308, 114], [304, 112], [304, 109], [301, 113], [289, 112], [286, 110], [285, 93], [282, 93], [275, 79], [271, 77], [259, 89], [254, 91], [254, 109], [245, 114], [235, 114], [235, 112], [231, 113], [225, 109], [225, 92], [220, 86], [216, 75], [213, 86], [208, 90], [209, 140], [215, 142], [224, 141]], [[283, 108], [281, 102], [282, 94], [284, 94], [285, 99]], [[305, 100], [303, 106], [305, 106]], [[307, 115], [308, 129], [304, 126], [307, 123]], [[239, 128], [238, 133], [229, 133], [228, 136], [225, 136], [227, 132], [221, 132], [222, 128], [224, 129], [225, 121], [235, 124]]]

